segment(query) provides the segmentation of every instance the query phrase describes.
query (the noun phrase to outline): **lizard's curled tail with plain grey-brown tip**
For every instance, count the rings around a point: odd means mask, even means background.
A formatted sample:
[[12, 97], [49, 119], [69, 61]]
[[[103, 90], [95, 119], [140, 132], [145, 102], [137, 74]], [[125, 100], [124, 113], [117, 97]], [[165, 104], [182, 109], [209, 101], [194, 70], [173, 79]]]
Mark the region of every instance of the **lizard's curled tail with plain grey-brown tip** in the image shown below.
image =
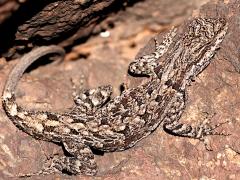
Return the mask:
[[55, 45], [38, 47], [31, 52], [25, 54], [19, 59], [18, 64], [12, 69], [7, 79], [2, 95], [2, 104], [8, 117], [19, 128], [23, 129], [23, 122], [18, 122], [24, 119], [25, 114], [23, 109], [19, 107], [15, 99], [15, 89], [19, 79], [22, 77], [24, 71], [40, 57], [48, 54], [59, 54], [63, 59], [65, 51], [63, 48]]

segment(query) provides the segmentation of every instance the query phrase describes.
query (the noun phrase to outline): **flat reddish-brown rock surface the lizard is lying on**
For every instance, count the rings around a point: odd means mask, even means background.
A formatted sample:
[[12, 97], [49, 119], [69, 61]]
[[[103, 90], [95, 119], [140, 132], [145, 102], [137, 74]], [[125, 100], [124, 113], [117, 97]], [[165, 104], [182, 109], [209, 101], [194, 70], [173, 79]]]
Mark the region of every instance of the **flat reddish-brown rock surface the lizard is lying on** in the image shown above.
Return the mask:
[[[76, 45], [63, 64], [48, 64], [26, 74], [18, 86], [18, 103], [29, 109], [66, 110], [73, 104], [70, 78], [79, 85], [83, 79], [84, 86], [90, 88], [112, 84], [115, 95], [119, 94], [122, 82], [137, 85], [141, 78], [127, 76], [127, 66], [137, 51], [158, 32], [183, 24], [199, 6], [197, 0], [147, 0], [107, 18], [101, 26], [114, 22], [112, 28], [106, 28], [85, 44]], [[213, 124], [230, 121], [219, 131], [231, 135], [208, 138], [213, 151], [207, 151], [197, 140], [174, 137], [158, 128], [129, 150], [96, 155], [99, 167], [96, 177], [56, 174], [44, 179], [239, 179], [239, 15], [237, 0], [209, 2], [192, 15], [224, 16], [229, 22], [221, 49], [188, 89], [187, 108], [181, 118], [181, 121], [199, 123], [206, 114], [215, 114]], [[162, 39], [162, 34], [157, 38]], [[150, 40], [138, 55], [153, 48]], [[0, 59], [0, 89], [15, 63]], [[19, 131], [2, 109], [0, 124], [0, 177], [3, 179], [38, 171], [47, 157], [63, 153], [61, 147]]]

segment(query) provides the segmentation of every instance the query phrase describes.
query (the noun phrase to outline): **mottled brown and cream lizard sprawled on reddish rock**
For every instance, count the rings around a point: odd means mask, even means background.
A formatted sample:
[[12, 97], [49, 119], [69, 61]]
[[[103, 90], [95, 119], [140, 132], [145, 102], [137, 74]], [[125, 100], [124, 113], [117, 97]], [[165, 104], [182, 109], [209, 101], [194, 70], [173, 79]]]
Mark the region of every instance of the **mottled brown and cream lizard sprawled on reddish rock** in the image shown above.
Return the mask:
[[212, 61], [228, 29], [224, 18], [198, 17], [183, 32], [170, 30], [155, 51], [136, 58], [129, 71], [148, 79], [111, 97], [110, 85], [87, 89], [74, 98], [68, 112], [26, 110], [16, 103], [15, 88], [24, 71], [34, 61], [51, 53], [62, 58], [56, 45], [42, 46], [25, 54], [8, 76], [3, 95], [4, 110], [12, 122], [36, 139], [59, 143], [69, 153], [55, 155], [47, 167], [35, 174], [68, 172], [95, 175], [97, 164], [92, 149], [103, 152], [133, 147], [160, 124], [173, 135], [204, 140], [219, 135], [221, 125], [202, 122], [192, 126], [179, 121], [185, 109], [186, 88]]

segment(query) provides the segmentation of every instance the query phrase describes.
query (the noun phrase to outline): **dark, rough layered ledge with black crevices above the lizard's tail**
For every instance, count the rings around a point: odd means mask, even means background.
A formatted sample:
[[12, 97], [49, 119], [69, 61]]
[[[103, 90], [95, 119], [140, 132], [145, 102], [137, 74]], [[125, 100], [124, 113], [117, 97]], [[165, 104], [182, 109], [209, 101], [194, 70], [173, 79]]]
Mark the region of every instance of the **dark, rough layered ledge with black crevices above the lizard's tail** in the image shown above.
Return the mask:
[[[31, 0], [19, 7], [18, 1], [5, 0], [0, 4], [0, 53], [11, 57], [34, 46], [71, 46], [76, 40], [89, 37], [96, 25], [111, 13], [135, 1]], [[13, 9], [16, 11], [11, 14]], [[6, 20], [9, 16], [11, 19]]]

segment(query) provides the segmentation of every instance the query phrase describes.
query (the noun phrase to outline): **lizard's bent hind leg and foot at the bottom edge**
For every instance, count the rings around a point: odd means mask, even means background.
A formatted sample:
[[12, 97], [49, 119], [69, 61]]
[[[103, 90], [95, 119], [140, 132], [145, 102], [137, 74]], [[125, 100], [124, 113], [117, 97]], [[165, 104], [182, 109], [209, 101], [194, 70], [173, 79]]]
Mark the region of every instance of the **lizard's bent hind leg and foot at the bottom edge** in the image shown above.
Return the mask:
[[35, 173], [19, 174], [18, 177], [31, 177], [59, 172], [70, 175], [84, 174], [91, 176], [97, 173], [97, 164], [88, 146], [72, 140], [64, 142], [63, 145], [65, 150], [70, 153], [70, 157], [54, 155], [46, 161], [42, 170]]

